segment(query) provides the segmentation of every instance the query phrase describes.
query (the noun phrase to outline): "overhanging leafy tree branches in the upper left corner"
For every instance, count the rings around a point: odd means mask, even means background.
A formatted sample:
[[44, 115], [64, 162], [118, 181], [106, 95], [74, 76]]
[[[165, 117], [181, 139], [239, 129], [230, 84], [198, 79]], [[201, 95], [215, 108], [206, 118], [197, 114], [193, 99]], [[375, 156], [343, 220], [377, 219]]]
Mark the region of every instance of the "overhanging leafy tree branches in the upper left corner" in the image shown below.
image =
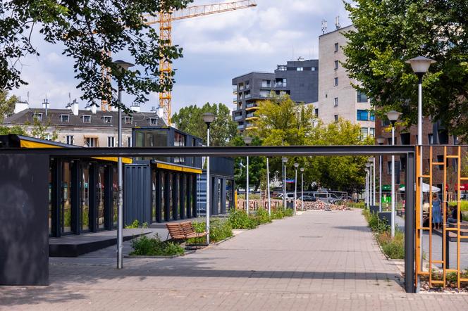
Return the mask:
[[[101, 69], [121, 80], [135, 102], [147, 101], [149, 92], [171, 89], [174, 72], [159, 68], [161, 56], [168, 61], [182, 56], [182, 49], [161, 40], [143, 14], [156, 16], [183, 8], [192, 0], [106, 0], [106, 1], [2, 1], [0, 4], [0, 89], [11, 90], [27, 84], [21, 77], [21, 60], [39, 56], [32, 44], [37, 34], [45, 42], [61, 43], [63, 54], [75, 59], [75, 78], [80, 80], [82, 99], [105, 99], [118, 106], [116, 89], [102, 79]], [[39, 28], [39, 32], [36, 32]], [[130, 53], [135, 70], [121, 72], [111, 53]], [[160, 77], [160, 73], [162, 76]], [[122, 108], [125, 108], [123, 106]]]

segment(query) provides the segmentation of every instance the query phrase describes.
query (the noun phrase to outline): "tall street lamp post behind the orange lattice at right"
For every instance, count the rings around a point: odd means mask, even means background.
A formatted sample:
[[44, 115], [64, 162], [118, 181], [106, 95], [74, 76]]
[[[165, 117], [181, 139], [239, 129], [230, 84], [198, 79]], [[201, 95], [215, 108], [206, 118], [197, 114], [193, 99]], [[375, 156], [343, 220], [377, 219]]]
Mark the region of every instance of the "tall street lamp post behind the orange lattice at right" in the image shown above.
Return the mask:
[[[409, 63], [411, 65], [411, 68], [414, 72], [415, 75], [418, 77], [418, 146], [419, 146], [419, 174], [422, 174], [422, 78], [426, 74], [427, 70], [429, 70], [429, 67], [431, 64], [436, 63], [431, 58], [427, 58], [424, 56], [418, 56], [416, 58], [412, 58], [406, 63]], [[417, 177], [419, 178], [419, 177]], [[422, 201], [423, 201], [423, 194], [422, 194], [422, 178], [419, 178], [419, 205], [422, 206]], [[431, 185], [432, 186], [432, 185]], [[422, 207], [419, 208], [419, 223], [422, 224]], [[422, 234], [422, 229], [419, 229], [419, 236], [421, 239], [421, 245], [422, 245], [422, 239], [423, 239], [423, 234]], [[423, 256], [422, 256], [422, 248], [419, 250], [419, 258], [421, 259], [421, 267], [422, 267], [422, 261], [423, 261]], [[419, 281], [418, 281], [419, 284]]]

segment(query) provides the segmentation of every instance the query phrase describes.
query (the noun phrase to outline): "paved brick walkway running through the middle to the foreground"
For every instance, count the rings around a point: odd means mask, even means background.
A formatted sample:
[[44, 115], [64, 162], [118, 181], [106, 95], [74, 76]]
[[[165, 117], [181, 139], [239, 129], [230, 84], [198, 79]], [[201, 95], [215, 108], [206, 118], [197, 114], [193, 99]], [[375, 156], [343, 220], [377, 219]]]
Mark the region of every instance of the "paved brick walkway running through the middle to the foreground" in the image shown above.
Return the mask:
[[[114, 248], [115, 249], [115, 248]], [[360, 210], [304, 212], [173, 259], [109, 250], [51, 258], [47, 287], [0, 287], [4, 310], [467, 310], [468, 295], [407, 294]]]

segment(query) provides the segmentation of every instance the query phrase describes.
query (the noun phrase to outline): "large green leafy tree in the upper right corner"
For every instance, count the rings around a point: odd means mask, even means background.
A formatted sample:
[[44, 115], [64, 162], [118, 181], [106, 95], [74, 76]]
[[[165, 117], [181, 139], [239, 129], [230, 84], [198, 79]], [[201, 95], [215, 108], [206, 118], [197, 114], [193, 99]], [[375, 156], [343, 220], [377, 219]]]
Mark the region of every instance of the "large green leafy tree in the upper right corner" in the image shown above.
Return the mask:
[[468, 6], [465, 0], [374, 1], [345, 4], [355, 31], [345, 32], [343, 64], [378, 110], [400, 110], [417, 123], [417, 77], [405, 63], [433, 58], [424, 76], [423, 114], [467, 139]]

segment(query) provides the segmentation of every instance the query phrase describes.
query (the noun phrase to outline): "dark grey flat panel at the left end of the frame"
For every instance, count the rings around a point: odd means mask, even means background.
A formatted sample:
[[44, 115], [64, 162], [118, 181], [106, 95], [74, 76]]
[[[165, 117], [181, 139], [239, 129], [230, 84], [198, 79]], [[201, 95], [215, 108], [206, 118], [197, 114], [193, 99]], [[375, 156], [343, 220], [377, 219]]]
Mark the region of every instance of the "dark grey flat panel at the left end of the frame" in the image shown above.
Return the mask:
[[49, 284], [48, 155], [0, 155], [0, 284]]

